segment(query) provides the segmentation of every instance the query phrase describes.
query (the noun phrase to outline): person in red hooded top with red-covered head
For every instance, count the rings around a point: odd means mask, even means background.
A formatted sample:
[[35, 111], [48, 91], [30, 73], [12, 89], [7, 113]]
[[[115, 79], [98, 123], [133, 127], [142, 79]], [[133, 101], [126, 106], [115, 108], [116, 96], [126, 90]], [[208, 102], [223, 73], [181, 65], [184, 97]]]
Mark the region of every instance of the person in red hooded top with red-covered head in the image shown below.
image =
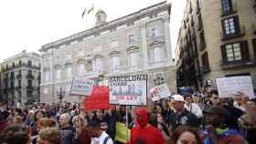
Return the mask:
[[162, 133], [147, 122], [147, 111], [138, 108], [134, 111], [136, 126], [131, 131], [130, 144], [164, 144]]

